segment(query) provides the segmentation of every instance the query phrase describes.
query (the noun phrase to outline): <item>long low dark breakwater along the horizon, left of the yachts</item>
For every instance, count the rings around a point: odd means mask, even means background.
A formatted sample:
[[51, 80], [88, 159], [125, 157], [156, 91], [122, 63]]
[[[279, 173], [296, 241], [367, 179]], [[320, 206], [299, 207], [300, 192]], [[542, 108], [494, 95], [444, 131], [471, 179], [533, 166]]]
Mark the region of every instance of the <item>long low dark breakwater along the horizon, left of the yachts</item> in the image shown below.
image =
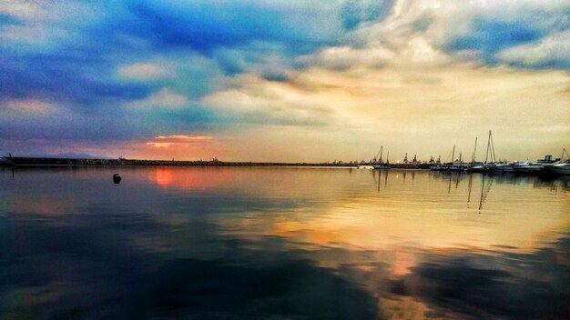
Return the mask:
[[[7, 158], [14, 166], [119, 166], [119, 165], [171, 165], [171, 166], [327, 166], [353, 167], [359, 164], [330, 164], [330, 163], [279, 163], [279, 162], [225, 162], [225, 161], [172, 161], [172, 160], [137, 160], [137, 159], [75, 159], [75, 158], [36, 158], [12, 157]], [[368, 165], [368, 164], [364, 164]], [[392, 168], [429, 169], [429, 164], [391, 164]]]

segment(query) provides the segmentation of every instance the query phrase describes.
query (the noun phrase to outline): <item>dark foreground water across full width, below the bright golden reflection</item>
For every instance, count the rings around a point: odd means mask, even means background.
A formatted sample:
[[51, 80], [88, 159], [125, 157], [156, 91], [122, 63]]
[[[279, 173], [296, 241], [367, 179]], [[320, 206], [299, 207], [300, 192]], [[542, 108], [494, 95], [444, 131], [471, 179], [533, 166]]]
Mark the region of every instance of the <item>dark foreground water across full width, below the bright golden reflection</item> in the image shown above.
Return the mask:
[[[201, 220], [64, 215], [0, 233], [8, 316], [565, 318], [570, 241], [532, 254], [313, 246]], [[151, 241], [148, 242], [148, 239]], [[141, 244], [160, 246], [154, 250]], [[415, 266], [412, 266], [415, 265]]]

